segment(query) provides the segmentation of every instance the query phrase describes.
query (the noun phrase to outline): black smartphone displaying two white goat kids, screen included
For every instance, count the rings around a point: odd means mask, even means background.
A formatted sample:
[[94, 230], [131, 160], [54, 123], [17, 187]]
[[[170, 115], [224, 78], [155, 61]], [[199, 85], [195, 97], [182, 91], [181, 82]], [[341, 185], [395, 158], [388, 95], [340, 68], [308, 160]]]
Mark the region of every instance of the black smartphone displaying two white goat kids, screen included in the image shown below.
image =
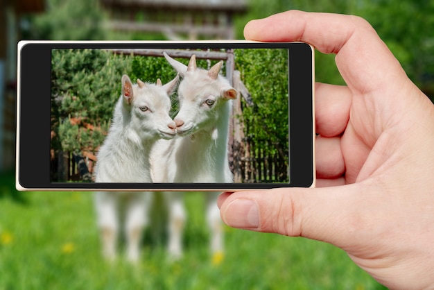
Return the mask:
[[303, 42], [18, 43], [16, 187], [315, 186]]

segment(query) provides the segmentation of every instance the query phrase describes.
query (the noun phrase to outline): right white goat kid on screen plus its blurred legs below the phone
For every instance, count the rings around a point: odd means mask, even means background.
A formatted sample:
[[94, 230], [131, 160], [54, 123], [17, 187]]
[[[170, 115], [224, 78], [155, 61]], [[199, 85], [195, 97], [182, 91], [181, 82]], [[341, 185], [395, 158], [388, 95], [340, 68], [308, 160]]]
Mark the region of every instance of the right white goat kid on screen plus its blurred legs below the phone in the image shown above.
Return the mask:
[[[223, 62], [209, 71], [196, 67], [196, 56], [186, 66], [164, 56], [183, 77], [178, 87], [180, 111], [174, 121], [177, 137], [159, 140], [151, 154], [155, 182], [232, 182], [227, 160], [227, 139], [231, 99], [238, 92], [219, 75]], [[161, 164], [165, 164], [161, 166]], [[218, 193], [207, 193], [207, 223], [211, 229], [211, 252], [223, 252], [223, 232], [216, 205]], [[165, 192], [169, 212], [168, 251], [182, 255], [182, 230], [185, 210], [182, 193]]]

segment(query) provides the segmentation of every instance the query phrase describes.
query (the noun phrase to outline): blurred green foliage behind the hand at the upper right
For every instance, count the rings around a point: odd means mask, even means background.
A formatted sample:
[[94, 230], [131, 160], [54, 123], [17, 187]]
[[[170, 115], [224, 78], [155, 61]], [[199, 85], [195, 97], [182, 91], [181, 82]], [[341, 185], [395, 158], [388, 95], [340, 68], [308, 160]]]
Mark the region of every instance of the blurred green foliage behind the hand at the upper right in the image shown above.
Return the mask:
[[[434, 1], [413, 0], [248, 0], [249, 10], [237, 16], [236, 37], [250, 19], [268, 17], [286, 10], [333, 12], [358, 15], [376, 29], [415, 82], [434, 100]], [[334, 56], [315, 53], [315, 77], [322, 83], [345, 84]]]

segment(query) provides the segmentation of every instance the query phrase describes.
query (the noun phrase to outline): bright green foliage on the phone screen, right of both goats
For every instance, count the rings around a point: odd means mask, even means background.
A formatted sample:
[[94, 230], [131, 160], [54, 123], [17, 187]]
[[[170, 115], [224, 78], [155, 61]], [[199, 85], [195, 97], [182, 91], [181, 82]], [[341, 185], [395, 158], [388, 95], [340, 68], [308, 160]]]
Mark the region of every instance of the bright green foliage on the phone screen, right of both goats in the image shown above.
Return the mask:
[[[236, 69], [252, 95], [253, 106], [243, 101], [246, 137], [258, 148], [269, 140], [288, 152], [288, 51], [236, 49]], [[268, 151], [275, 153], [275, 148]]]

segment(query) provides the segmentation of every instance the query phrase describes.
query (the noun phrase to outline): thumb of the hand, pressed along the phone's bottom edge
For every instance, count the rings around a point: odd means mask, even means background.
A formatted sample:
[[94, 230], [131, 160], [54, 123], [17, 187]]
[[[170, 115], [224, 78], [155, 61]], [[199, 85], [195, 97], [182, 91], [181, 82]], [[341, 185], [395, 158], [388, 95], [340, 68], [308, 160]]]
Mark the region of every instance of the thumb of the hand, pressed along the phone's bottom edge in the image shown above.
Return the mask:
[[306, 237], [345, 248], [363, 217], [362, 184], [224, 193], [218, 206], [223, 222], [234, 228]]

